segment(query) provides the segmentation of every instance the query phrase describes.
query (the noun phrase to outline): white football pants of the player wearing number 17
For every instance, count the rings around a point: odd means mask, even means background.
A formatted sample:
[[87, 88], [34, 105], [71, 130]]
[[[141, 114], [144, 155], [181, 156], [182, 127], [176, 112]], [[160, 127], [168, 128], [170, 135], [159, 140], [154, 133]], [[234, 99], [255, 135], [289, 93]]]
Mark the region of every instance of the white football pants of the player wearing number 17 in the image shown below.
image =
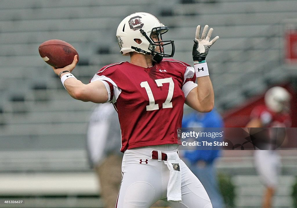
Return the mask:
[[[203, 185], [182, 160], [182, 201], [167, 201], [169, 169], [163, 160], [152, 159], [153, 150], [151, 147], [141, 147], [125, 151], [116, 208], [149, 208], [159, 200], [172, 208], [212, 208]], [[162, 151], [166, 152], [169, 151]]]

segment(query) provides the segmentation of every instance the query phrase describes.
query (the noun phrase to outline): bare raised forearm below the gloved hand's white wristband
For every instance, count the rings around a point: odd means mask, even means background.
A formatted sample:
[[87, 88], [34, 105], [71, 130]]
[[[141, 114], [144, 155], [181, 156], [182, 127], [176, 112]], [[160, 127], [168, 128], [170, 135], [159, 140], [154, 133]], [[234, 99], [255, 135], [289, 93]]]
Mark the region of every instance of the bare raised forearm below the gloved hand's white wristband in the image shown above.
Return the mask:
[[209, 76], [198, 77], [198, 87], [192, 89], [186, 98], [186, 104], [199, 111], [210, 112], [214, 108], [214, 90]]

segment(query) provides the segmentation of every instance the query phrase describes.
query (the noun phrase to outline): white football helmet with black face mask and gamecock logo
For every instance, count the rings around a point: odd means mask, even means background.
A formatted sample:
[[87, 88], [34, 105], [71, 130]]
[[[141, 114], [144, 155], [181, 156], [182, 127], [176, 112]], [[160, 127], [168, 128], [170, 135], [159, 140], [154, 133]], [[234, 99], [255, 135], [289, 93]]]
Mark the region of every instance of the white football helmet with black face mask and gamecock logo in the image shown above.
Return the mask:
[[[136, 51], [152, 55], [153, 60], [159, 63], [163, 57], [173, 57], [174, 54], [173, 40], [162, 40], [162, 34], [167, 31], [168, 27], [160, 23], [154, 15], [136, 12], [121, 21], [116, 31], [116, 37], [123, 55], [129, 55], [130, 52]], [[157, 42], [151, 39], [152, 33], [158, 35]], [[138, 44], [135, 39], [140, 39], [141, 43]], [[171, 53], [164, 53], [165, 45], [171, 45]], [[159, 51], [154, 51], [156, 47], [159, 47]]]

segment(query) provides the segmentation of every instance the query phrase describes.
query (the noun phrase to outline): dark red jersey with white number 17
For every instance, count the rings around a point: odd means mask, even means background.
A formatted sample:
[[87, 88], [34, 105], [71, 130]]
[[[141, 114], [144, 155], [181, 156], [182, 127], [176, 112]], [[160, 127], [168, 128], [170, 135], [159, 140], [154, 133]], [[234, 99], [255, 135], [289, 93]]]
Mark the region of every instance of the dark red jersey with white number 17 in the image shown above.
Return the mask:
[[181, 144], [183, 107], [195, 87], [195, 69], [181, 61], [163, 59], [143, 68], [129, 62], [103, 67], [91, 82], [103, 81], [121, 125], [121, 151], [135, 147]]

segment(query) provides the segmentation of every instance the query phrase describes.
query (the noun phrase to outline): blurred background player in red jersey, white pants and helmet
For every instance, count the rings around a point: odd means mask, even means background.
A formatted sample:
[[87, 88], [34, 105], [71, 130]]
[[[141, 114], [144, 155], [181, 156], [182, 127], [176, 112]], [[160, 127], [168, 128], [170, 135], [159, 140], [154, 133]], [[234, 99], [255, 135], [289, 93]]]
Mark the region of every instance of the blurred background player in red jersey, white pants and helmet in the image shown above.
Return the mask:
[[[247, 127], [290, 127], [290, 93], [282, 87], [270, 88], [265, 93], [265, 104], [255, 107]], [[269, 130], [271, 131], [271, 129]], [[264, 135], [263, 135], [264, 136]], [[278, 175], [281, 171], [281, 158], [275, 150], [277, 141], [272, 141], [275, 135], [269, 135], [265, 149], [255, 151], [255, 167], [265, 185], [263, 208], [270, 208], [278, 185]], [[259, 138], [262, 139], [262, 138]], [[266, 139], [266, 138], [264, 138]], [[264, 139], [262, 139], [264, 141]]]

